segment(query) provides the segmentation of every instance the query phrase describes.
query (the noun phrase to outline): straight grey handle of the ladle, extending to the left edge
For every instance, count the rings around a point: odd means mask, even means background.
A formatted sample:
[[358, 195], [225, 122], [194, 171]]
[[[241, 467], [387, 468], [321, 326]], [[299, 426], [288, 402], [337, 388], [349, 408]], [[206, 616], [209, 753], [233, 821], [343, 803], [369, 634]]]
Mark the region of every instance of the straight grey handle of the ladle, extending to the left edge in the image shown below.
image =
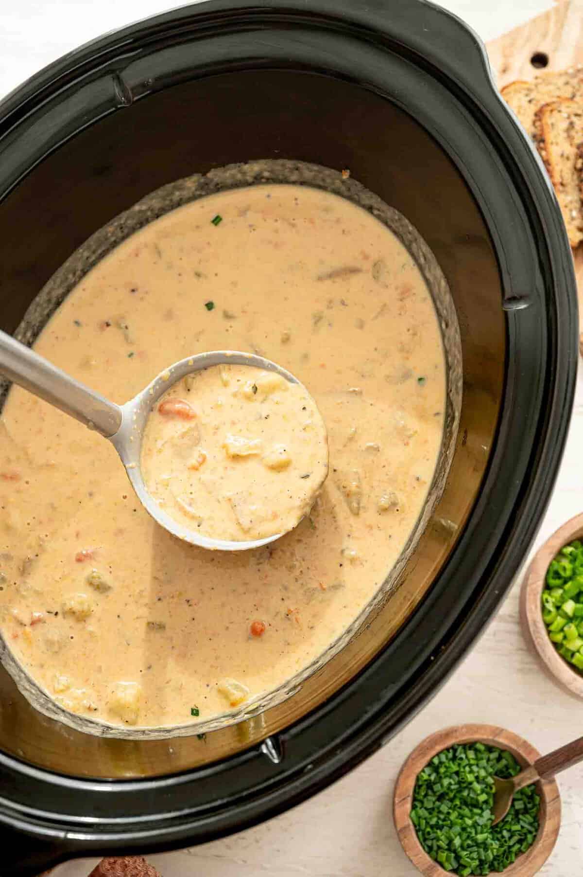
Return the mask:
[[106, 439], [122, 424], [119, 405], [75, 381], [6, 332], [0, 332], [0, 373]]

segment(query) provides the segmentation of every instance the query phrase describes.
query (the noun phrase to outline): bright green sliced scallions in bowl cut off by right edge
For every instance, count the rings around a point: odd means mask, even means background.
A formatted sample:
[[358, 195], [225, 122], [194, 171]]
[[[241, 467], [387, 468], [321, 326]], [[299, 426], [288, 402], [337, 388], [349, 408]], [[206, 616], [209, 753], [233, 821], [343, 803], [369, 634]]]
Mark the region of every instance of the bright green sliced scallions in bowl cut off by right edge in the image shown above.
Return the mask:
[[541, 594], [543, 621], [559, 655], [583, 671], [583, 545], [575, 539], [551, 560]]

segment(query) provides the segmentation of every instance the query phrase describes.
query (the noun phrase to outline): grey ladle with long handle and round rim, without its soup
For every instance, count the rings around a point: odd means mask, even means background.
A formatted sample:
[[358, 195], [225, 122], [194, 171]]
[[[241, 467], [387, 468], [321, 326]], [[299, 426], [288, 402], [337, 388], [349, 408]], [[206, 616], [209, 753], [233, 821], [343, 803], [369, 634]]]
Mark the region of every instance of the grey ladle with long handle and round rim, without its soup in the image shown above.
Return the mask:
[[140, 466], [144, 426], [159, 397], [186, 374], [223, 364], [263, 368], [281, 374], [290, 383], [299, 383], [293, 374], [277, 363], [263, 359], [263, 356], [220, 350], [212, 353], [197, 353], [195, 356], [187, 357], [186, 360], [175, 362], [158, 374], [158, 377], [154, 378], [137, 396], [130, 399], [130, 402], [116, 405], [100, 393], [86, 387], [81, 381], [76, 381], [60, 368], [53, 366], [51, 362], [12, 338], [11, 335], [0, 332], [0, 373], [18, 386], [54, 405], [55, 408], [60, 408], [65, 414], [80, 420], [81, 424], [85, 424], [89, 429], [99, 432], [104, 439], [109, 439], [123, 462], [137, 498], [158, 524], [173, 536], [178, 536], [193, 545], [200, 545], [201, 548], [245, 551], [267, 545], [283, 536], [283, 533], [235, 542], [230, 539], [209, 538], [197, 531], [189, 530], [167, 515], [152, 499], [144, 484]]

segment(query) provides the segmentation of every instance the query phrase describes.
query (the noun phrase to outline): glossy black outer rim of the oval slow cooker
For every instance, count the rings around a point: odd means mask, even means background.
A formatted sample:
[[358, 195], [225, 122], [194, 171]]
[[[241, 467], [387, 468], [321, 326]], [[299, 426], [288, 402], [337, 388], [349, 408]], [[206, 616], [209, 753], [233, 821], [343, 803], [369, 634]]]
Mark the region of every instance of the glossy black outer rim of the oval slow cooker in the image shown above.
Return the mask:
[[[234, 44], [235, 53], [217, 69], [300, 66], [301, 40], [293, 46], [285, 45], [284, 39], [269, 41], [270, 45], [257, 41], [254, 49], [253, 34], [264, 34], [266, 28], [284, 30], [288, 37], [298, 29], [303, 35], [317, 33], [322, 53], [319, 57], [318, 48], [312, 47], [313, 60], [306, 58], [306, 68], [352, 78], [380, 95], [383, 79], [390, 75], [390, 59], [405, 60], [411, 76], [421, 71], [441, 89], [445, 86], [455, 111], [472, 119], [476, 143], [488, 143], [483, 163], [491, 162], [499, 177], [499, 207], [509, 199], [506, 225], [500, 210], [495, 222], [490, 215], [488, 199], [494, 193], [488, 189], [488, 197], [483, 195], [481, 182], [488, 168], [460, 167], [455, 126], [445, 132], [447, 108], [441, 128], [436, 127], [431, 90], [418, 98], [420, 106], [425, 101], [425, 118], [422, 106], [416, 118], [465, 175], [499, 261], [509, 353], [495, 451], [458, 544], [404, 630], [355, 680], [273, 738], [272, 746], [186, 774], [112, 782], [51, 774], [0, 754], [6, 875], [36, 873], [71, 855], [160, 851], [201, 843], [275, 816], [338, 779], [411, 719], [474, 643], [521, 566], [551, 495], [577, 363], [571, 251], [537, 155], [502, 105], [480, 40], [458, 18], [424, 0], [313, 0], [309, 6], [301, 0], [256, 0], [251, 5], [245, 0], [208, 0], [97, 39], [32, 77], [0, 103], [0, 148], [4, 137], [18, 136], [19, 125], [60, 89], [103, 70], [111, 75], [123, 68], [124, 58], [160, 40], [190, 39], [194, 33], [205, 39], [215, 32], [244, 33], [239, 54]], [[350, 39], [347, 58], [335, 61], [324, 51], [327, 35]], [[360, 47], [358, 59], [355, 46]], [[376, 60], [383, 53], [386, 59], [386, 68], [377, 63], [370, 78], [368, 53], [375, 53]], [[352, 75], [347, 65], [356, 64], [355, 59], [364, 67]], [[123, 107], [121, 82], [118, 107]], [[398, 103], [394, 94], [390, 99]], [[65, 134], [73, 136], [79, 130], [78, 125]], [[44, 154], [58, 145], [47, 140]], [[29, 164], [26, 171], [31, 168]], [[18, 183], [16, 170], [9, 176], [0, 169], [0, 197]], [[521, 289], [516, 289], [516, 275]], [[533, 289], [544, 296], [544, 325], [536, 309], [528, 307]], [[531, 342], [526, 346], [525, 335]], [[519, 337], [521, 345], [516, 344]], [[418, 631], [420, 648], [413, 646], [411, 637], [404, 644], [402, 634], [411, 625]], [[137, 800], [139, 816], [127, 815], [135, 812]]]

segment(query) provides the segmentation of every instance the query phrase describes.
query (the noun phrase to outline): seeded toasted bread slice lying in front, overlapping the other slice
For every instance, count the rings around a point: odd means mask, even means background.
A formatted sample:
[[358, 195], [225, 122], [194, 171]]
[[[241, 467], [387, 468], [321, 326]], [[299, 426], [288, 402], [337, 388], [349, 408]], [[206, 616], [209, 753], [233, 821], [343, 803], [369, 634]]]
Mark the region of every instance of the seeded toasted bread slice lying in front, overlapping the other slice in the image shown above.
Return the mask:
[[583, 140], [583, 102], [562, 98], [544, 103], [534, 118], [535, 142], [565, 220], [571, 246], [583, 240], [577, 146]]

